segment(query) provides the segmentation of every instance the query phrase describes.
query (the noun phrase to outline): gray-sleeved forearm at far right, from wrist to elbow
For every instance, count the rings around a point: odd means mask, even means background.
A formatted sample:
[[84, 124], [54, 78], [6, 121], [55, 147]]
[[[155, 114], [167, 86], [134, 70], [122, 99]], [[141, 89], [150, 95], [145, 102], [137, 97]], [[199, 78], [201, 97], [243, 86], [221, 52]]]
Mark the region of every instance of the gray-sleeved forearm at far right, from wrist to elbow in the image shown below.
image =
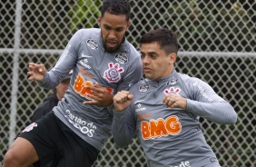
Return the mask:
[[237, 114], [231, 107], [231, 104], [225, 101], [202, 103], [188, 99], [187, 110], [214, 123], [233, 124], [237, 120]]

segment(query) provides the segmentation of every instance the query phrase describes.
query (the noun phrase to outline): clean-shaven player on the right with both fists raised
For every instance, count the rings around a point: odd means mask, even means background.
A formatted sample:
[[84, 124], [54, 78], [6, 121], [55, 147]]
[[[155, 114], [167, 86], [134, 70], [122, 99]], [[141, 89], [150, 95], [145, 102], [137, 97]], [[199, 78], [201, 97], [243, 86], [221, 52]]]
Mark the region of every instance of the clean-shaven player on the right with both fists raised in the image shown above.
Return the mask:
[[176, 35], [156, 29], [141, 39], [146, 79], [113, 97], [113, 139], [127, 146], [133, 134], [142, 143], [150, 167], [220, 167], [206, 143], [199, 117], [236, 123], [237, 114], [202, 80], [176, 72]]

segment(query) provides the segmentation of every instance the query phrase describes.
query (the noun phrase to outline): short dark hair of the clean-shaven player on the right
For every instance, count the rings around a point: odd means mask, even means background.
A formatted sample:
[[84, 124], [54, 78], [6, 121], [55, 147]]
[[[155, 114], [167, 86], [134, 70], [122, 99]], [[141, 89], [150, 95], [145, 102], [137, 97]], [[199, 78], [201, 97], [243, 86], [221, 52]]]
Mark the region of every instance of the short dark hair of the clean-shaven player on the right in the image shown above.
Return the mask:
[[166, 28], [159, 28], [143, 34], [141, 44], [156, 42], [165, 54], [178, 53], [177, 35]]

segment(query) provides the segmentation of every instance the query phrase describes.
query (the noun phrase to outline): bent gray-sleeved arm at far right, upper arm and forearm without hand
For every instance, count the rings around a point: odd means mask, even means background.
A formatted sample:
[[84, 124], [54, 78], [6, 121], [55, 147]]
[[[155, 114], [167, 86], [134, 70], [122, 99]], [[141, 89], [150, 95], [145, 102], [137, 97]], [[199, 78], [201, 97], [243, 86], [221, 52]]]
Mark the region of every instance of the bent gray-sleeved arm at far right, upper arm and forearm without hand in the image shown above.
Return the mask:
[[235, 113], [230, 103], [215, 93], [208, 83], [194, 80], [189, 88], [192, 99], [187, 99], [186, 109], [214, 123], [236, 123]]

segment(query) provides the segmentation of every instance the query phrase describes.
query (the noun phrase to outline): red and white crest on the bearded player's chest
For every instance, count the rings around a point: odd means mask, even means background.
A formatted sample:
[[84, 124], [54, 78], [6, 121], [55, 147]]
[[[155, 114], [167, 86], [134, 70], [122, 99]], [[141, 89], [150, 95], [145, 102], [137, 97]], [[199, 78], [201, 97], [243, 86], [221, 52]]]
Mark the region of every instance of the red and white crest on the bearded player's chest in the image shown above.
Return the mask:
[[109, 83], [117, 83], [121, 79], [121, 73], [124, 72], [123, 67], [120, 64], [108, 64], [108, 69], [104, 71], [103, 78]]

